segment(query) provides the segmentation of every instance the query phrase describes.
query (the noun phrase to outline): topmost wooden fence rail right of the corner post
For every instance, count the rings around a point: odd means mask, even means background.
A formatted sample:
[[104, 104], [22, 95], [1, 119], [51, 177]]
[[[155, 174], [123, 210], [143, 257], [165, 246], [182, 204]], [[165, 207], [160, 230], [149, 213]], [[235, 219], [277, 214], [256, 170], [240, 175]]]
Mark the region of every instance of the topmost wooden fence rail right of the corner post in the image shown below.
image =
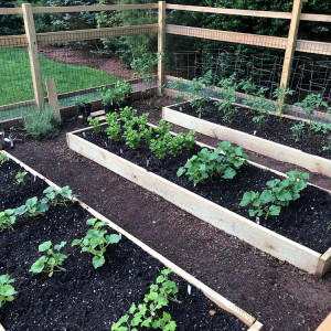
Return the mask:
[[[209, 13], [218, 13], [218, 14], [227, 14], [227, 15], [253, 17], [253, 18], [284, 19], [284, 20], [291, 20], [292, 18], [291, 12], [282, 12], [282, 11], [244, 10], [244, 9], [214, 8], [214, 7], [170, 4], [170, 3], [167, 4], [167, 9], [209, 12]], [[331, 22], [331, 15], [305, 13], [301, 15], [301, 21]]]

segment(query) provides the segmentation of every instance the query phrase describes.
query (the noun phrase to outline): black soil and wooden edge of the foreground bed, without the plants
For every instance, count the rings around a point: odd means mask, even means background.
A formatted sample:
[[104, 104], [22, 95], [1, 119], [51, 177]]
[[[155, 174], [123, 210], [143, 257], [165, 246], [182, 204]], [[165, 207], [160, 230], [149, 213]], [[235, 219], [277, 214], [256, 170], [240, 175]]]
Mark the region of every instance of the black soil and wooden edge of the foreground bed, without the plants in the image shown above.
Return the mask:
[[[6, 154], [10, 160], [1, 166], [1, 175], [7, 178], [7, 188], [10, 188], [10, 180], [11, 186], [17, 186], [17, 171], [28, 171], [22, 188], [29, 193], [20, 193], [23, 201], [7, 200], [1, 209], [20, 206], [29, 196], [40, 197], [42, 190], [49, 185], [60, 190], [53, 182]], [[1, 193], [18, 195], [14, 190]], [[39, 257], [40, 243], [47, 239], [70, 242], [83, 237], [87, 229], [85, 222], [90, 217], [106, 222], [111, 232], [122, 235], [119, 244], [108, 247], [104, 267], [94, 269], [90, 256], [72, 248], [65, 273], [52, 278], [29, 275], [30, 266]], [[14, 286], [19, 292], [13, 302], [6, 303], [0, 310], [0, 321], [6, 330], [110, 330], [113, 322], [125, 314], [132, 302], [139, 303], [143, 299], [149, 285], [154, 282], [164, 266], [180, 276], [172, 275], [171, 279], [180, 288], [178, 299], [182, 303], [180, 308], [178, 303], [169, 306], [169, 312], [179, 328], [261, 330], [261, 324], [252, 316], [77, 199], [52, 207], [41, 216], [18, 220], [13, 231], [0, 232], [0, 275], [10, 274], [15, 278]], [[191, 295], [188, 295], [188, 282], [195, 287]], [[2, 325], [0, 330], [3, 330]]]

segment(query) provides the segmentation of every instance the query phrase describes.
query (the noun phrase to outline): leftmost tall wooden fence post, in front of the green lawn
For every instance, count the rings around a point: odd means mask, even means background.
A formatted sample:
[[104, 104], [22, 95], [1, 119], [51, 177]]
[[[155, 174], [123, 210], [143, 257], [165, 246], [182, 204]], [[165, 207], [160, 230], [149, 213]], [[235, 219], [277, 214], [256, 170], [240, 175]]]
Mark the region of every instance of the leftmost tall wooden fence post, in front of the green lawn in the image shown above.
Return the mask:
[[44, 90], [41, 77], [35, 26], [33, 20], [33, 11], [31, 3], [22, 4], [25, 33], [28, 39], [28, 50], [30, 57], [31, 75], [34, 90], [35, 104], [39, 109], [44, 109]]

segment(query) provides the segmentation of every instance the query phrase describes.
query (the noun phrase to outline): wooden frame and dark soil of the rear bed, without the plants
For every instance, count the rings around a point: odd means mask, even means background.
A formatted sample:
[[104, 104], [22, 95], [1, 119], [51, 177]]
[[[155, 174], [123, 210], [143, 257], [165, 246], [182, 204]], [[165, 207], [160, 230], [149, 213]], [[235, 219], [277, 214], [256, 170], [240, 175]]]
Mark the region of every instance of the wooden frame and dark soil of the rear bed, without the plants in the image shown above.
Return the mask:
[[214, 106], [214, 102], [206, 104], [204, 109], [204, 115], [199, 118], [190, 103], [181, 103], [163, 107], [162, 117], [181, 127], [218, 140], [228, 140], [254, 152], [331, 178], [331, 154], [330, 151], [322, 151], [321, 145], [321, 139], [325, 137], [320, 134], [307, 135], [296, 142], [289, 129], [293, 121], [298, 122], [293, 117], [284, 116], [280, 122], [279, 117], [270, 115], [264, 129], [256, 130], [253, 115], [248, 114], [247, 108], [242, 108], [235, 115], [231, 127], [224, 126], [222, 113]]

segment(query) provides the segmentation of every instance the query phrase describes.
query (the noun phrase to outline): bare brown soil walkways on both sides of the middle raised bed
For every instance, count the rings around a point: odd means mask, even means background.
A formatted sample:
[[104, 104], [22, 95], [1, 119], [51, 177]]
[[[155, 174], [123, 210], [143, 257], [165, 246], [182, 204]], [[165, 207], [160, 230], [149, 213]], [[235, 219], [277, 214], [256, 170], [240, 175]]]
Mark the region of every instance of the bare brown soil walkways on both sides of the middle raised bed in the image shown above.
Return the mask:
[[[164, 97], [136, 102], [134, 107], [149, 111], [157, 122], [161, 107], [174, 103]], [[317, 279], [72, 152], [65, 134], [83, 127], [86, 122], [65, 121], [56, 139], [28, 140], [12, 152], [58, 185], [70, 185], [88, 205], [258, 318], [266, 330], [312, 331], [327, 317], [331, 273]], [[202, 135], [199, 140], [210, 146], [218, 142]], [[248, 153], [267, 167], [293, 170], [292, 164]], [[327, 177], [310, 173], [310, 181], [331, 189]]]

